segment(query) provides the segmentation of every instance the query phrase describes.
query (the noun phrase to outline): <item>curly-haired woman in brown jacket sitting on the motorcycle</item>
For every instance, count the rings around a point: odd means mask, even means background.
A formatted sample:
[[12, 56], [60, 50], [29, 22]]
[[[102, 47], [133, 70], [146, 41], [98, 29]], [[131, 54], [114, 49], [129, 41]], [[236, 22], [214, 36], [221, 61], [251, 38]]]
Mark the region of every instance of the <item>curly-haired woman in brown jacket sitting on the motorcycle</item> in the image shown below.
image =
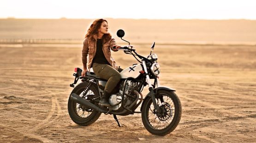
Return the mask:
[[[113, 49], [114, 46], [116, 49]], [[117, 71], [119, 67], [116, 66], [110, 49], [117, 51], [119, 48], [120, 46], [116, 44], [115, 39], [108, 33], [107, 21], [104, 19], [95, 20], [83, 41], [82, 76], [84, 77], [86, 71], [92, 67], [98, 77], [108, 80], [99, 102], [99, 104], [107, 107], [110, 107], [108, 103], [110, 93], [121, 78], [119, 71]]]

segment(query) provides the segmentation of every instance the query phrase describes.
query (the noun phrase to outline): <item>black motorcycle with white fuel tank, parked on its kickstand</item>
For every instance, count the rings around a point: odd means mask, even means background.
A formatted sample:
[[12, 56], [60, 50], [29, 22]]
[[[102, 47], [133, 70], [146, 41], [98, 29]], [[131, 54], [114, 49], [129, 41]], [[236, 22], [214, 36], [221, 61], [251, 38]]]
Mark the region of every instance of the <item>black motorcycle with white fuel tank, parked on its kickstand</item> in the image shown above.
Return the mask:
[[[118, 30], [117, 36], [122, 40], [123, 30]], [[128, 42], [124, 40], [125, 42]], [[68, 100], [68, 113], [76, 124], [88, 126], [94, 123], [101, 115], [113, 115], [120, 126], [116, 115], [133, 115], [141, 113], [144, 127], [152, 134], [165, 136], [172, 132], [179, 124], [181, 118], [181, 103], [175, 90], [160, 86], [160, 66], [157, 55], [152, 54], [155, 42], [151, 46], [148, 57], [137, 54], [136, 49], [130, 45], [120, 47], [125, 54], [130, 54], [139, 62], [120, 72], [121, 80], [112, 91], [109, 98], [111, 107], [99, 105], [101, 94], [105, 88], [106, 80], [97, 77], [92, 70], [82, 77], [82, 69], [75, 68], [74, 85], [79, 83], [71, 92]], [[114, 47], [115, 48], [115, 47]], [[150, 79], [154, 79], [152, 84]], [[143, 87], [149, 87], [149, 93], [143, 99]], [[140, 111], [135, 111], [141, 105]]]

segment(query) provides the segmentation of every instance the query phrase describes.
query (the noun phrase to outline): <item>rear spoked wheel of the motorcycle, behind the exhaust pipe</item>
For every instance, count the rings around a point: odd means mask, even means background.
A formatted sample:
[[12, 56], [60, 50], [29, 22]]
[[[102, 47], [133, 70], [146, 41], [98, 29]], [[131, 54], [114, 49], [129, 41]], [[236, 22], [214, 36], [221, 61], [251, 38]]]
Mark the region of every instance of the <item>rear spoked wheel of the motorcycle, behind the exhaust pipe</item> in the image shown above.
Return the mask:
[[[90, 88], [86, 89], [88, 82], [82, 82], [78, 84], [72, 93], [76, 93], [80, 97], [83, 97], [86, 100], [89, 100], [91, 103], [94, 103], [96, 100], [99, 100], [99, 95], [97, 93], [97, 88], [95, 85], [91, 85]], [[100, 112], [93, 110], [87, 106], [76, 103], [75, 101], [68, 100], [68, 113], [72, 121], [78, 125], [88, 126], [94, 123], [101, 115]]]

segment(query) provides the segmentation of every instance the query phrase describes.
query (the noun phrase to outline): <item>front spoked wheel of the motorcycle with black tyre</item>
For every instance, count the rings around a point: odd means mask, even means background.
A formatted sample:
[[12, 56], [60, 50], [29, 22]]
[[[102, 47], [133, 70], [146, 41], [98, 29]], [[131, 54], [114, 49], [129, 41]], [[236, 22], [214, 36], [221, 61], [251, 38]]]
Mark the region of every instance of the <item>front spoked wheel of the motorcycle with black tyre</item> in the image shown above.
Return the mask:
[[159, 107], [157, 112], [155, 112], [152, 98], [145, 99], [142, 107], [142, 122], [150, 133], [165, 136], [179, 124], [181, 103], [174, 92], [167, 90], [158, 90], [155, 100]]

